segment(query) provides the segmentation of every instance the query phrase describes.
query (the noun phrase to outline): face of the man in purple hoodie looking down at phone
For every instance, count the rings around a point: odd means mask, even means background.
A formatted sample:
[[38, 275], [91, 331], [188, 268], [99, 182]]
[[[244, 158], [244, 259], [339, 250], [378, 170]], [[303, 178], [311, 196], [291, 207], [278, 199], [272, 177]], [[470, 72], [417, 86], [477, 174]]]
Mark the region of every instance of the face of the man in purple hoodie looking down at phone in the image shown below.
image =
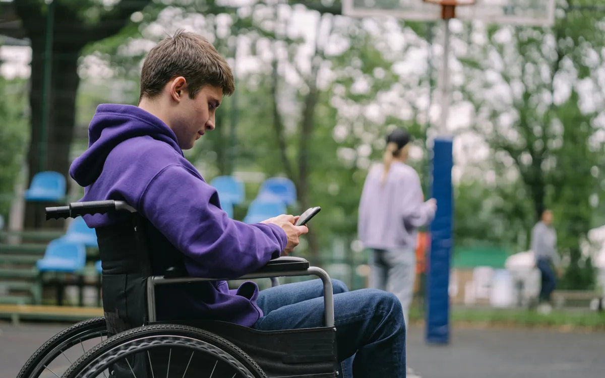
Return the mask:
[[189, 97], [186, 85], [175, 91], [180, 100], [171, 109], [171, 128], [180, 148], [190, 149], [204, 132], [214, 129], [214, 114], [223, 98], [223, 88], [206, 85], [195, 99]]

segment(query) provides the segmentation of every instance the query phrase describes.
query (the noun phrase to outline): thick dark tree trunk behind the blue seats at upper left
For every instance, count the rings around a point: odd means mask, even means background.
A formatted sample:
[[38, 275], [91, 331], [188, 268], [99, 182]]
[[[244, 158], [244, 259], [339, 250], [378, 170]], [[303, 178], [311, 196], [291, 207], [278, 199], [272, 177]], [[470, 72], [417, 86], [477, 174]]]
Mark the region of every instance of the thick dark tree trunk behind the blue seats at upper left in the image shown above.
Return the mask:
[[[28, 182], [40, 169], [68, 175], [82, 49], [118, 33], [150, 2], [101, 6], [94, 0], [13, 0], [32, 50]], [[32, 226], [34, 211], [28, 206], [26, 226]]]

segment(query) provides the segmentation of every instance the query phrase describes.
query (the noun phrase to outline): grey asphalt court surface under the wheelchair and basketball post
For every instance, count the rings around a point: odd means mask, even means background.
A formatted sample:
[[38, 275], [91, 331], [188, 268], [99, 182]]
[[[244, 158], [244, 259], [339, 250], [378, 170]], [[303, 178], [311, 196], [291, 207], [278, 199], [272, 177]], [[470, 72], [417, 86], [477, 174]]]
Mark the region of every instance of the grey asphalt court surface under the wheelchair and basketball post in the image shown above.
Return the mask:
[[[31, 353], [65, 327], [0, 322], [0, 377], [15, 377]], [[408, 363], [422, 378], [605, 377], [605, 333], [460, 329], [450, 346], [434, 347], [425, 344], [423, 331], [411, 328], [407, 348]]]

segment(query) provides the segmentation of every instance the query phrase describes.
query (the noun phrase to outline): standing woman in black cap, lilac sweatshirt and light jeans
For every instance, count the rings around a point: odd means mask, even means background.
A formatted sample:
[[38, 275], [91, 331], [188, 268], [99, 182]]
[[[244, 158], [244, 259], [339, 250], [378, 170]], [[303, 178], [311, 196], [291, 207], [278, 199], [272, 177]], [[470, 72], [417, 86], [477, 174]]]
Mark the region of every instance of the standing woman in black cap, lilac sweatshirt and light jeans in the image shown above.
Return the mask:
[[393, 293], [401, 301], [405, 325], [416, 278], [417, 229], [433, 220], [437, 203], [424, 201], [420, 178], [405, 164], [410, 135], [396, 129], [387, 137], [382, 165], [365, 179], [359, 203], [359, 238], [371, 249], [370, 287]]

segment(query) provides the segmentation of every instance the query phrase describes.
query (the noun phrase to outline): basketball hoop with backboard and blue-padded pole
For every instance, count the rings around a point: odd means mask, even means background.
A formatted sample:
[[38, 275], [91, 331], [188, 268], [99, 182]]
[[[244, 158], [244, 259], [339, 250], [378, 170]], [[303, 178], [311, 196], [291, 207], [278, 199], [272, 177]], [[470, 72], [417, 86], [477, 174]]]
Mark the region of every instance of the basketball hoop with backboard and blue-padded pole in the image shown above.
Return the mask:
[[[443, 27], [442, 65], [439, 72], [438, 134], [433, 145], [433, 197], [440, 213], [431, 223], [430, 258], [427, 259], [427, 311], [425, 339], [430, 344], [450, 341], [450, 258], [453, 245], [453, 135], [448, 131], [450, 108], [450, 21], [482, 21], [551, 27], [555, 23], [556, 0], [341, 0], [342, 15], [355, 18], [388, 16], [413, 22], [440, 21]], [[466, 5], [466, 6], [465, 6]], [[462, 7], [457, 10], [457, 7]], [[457, 11], [456, 11], [457, 10]], [[446, 209], [446, 210], [443, 210]]]

